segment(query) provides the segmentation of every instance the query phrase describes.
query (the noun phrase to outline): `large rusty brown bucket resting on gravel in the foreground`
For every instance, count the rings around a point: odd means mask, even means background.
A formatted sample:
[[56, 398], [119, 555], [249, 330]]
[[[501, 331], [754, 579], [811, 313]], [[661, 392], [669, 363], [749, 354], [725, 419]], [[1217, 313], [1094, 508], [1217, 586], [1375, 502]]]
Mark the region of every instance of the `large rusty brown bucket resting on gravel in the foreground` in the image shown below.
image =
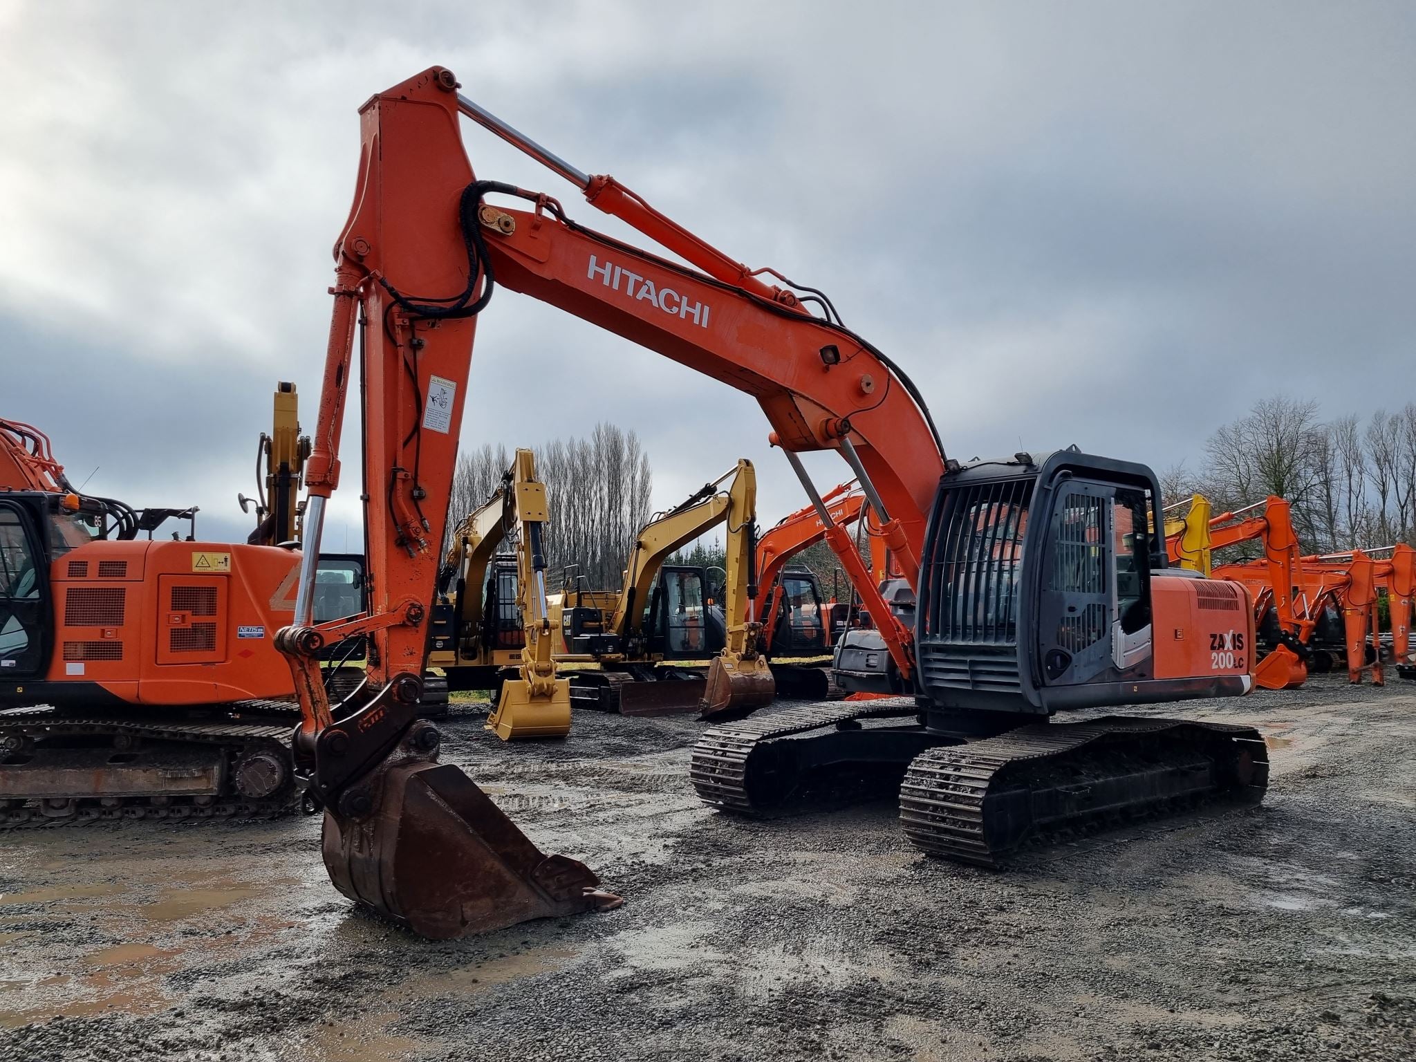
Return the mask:
[[537, 918], [607, 910], [582, 862], [545, 855], [449, 763], [401, 762], [361, 783], [368, 814], [324, 813], [324, 867], [334, 886], [433, 940]]

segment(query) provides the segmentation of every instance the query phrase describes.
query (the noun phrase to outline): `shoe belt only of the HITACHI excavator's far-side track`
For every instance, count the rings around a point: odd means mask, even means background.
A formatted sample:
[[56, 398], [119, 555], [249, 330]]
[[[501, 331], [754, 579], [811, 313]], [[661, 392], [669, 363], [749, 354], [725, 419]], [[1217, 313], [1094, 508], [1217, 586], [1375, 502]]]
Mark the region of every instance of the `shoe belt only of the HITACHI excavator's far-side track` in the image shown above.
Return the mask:
[[766, 741], [792, 738], [826, 726], [838, 726], [852, 719], [913, 716], [919, 714], [910, 698], [888, 701], [837, 704], [807, 704], [753, 716], [739, 722], [721, 724], [704, 731], [694, 745], [688, 776], [698, 799], [712, 807], [739, 814], [762, 814], [748, 796], [748, 758]]

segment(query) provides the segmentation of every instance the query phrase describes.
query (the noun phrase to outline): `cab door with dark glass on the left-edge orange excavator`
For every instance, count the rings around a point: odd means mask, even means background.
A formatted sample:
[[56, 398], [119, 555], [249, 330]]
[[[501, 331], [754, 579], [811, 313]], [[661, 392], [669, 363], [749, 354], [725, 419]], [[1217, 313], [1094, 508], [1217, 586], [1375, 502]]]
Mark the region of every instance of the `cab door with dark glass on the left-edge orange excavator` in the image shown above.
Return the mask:
[[0, 501], [0, 683], [48, 664], [50, 579], [28, 513]]

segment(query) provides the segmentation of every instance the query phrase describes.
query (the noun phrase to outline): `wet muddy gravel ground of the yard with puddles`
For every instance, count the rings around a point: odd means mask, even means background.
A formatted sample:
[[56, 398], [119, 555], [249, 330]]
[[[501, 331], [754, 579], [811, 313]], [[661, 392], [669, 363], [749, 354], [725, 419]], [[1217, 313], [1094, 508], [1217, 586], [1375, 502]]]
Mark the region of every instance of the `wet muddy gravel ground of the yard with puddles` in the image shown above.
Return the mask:
[[888, 803], [745, 823], [698, 724], [578, 715], [445, 759], [620, 910], [428, 943], [329, 885], [319, 821], [0, 835], [3, 1059], [1409, 1059], [1416, 685], [1187, 712], [1270, 738], [1253, 810], [922, 858]]

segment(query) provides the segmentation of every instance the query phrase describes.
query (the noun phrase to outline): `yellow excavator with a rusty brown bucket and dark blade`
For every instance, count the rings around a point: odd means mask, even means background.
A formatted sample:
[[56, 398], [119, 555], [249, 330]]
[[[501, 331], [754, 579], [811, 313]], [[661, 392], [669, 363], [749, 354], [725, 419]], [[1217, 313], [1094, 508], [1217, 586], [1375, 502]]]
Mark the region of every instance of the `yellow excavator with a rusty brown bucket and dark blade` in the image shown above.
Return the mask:
[[[593, 664], [571, 673], [571, 700], [623, 715], [697, 711], [701, 718], [746, 715], [770, 704], [772, 671], [758, 651], [755, 616], [758, 479], [752, 462], [704, 484], [639, 530], [619, 590], [571, 585], [551, 599], [561, 632], [556, 658]], [[666, 565], [680, 547], [726, 525], [722, 610], [708, 572]], [[701, 668], [678, 661], [711, 661]]]

